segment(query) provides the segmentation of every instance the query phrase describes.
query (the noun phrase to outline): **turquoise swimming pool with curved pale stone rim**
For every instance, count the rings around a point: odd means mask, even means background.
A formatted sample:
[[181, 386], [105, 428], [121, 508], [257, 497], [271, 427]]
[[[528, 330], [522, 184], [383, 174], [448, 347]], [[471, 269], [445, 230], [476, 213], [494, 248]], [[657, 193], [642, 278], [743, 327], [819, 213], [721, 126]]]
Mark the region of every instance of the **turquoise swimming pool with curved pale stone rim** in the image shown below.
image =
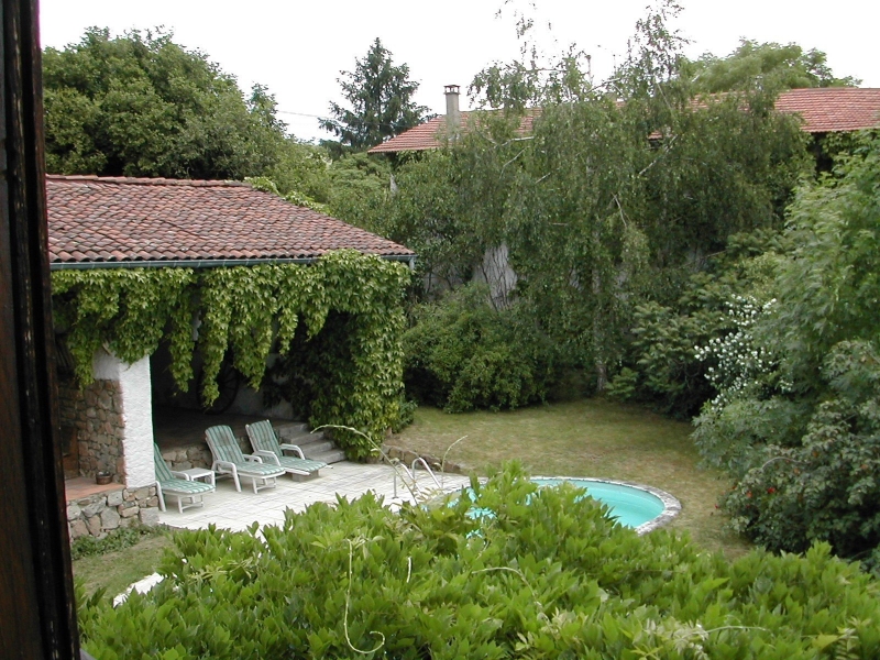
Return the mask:
[[[609, 515], [620, 525], [631, 527], [640, 535], [667, 525], [681, 512], [681, 503], [666, 491], [631, 482], [578, 476], [534, 476], [531, 482], [540, 488], [563, 483], [583, 488], [586, 495], [607, 505]], [[470, 496], [473, 498], [472, 493]], [[482, 518], [494, 517], [495, 514], [474, 507], [468, 515]]]

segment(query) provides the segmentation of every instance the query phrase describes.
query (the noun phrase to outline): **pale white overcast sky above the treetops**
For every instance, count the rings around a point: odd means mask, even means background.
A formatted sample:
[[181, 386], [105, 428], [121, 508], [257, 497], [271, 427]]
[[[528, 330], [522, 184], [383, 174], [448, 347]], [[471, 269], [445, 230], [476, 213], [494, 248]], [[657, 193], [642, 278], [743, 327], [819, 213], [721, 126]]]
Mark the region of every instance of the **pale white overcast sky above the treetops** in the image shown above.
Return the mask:
[[[381, 38], [394, 64], [420, 84], [415, 101], [446, 112], [444, 85], [462, 92], [493, 62], [518, 56], [515, 16], [536, 18], [536, 41], [548, 54], [574, 43], [591, 55], [596, 80], [626, 54], [649, 0], [40, 0], [43, 46], [64, 48], [86, 28], [163, 26], [174, 41], [199, 50], [246, 92], [268, 87], [288, 131], [304, 140], [331, 138], [318, 128], [330, 101], [344, 103], [340, 72], [352, 70]], [[798, 43], [828, 56], [839, 77], [880, 87], [877, 0], [679, 0], [671, 23], [690, 40], [685, 54], [727, 55], [739, 40]], [[501, 15], [498, 15], [501, 10]], [[462, 109], [469, 107], [462, 96]]]

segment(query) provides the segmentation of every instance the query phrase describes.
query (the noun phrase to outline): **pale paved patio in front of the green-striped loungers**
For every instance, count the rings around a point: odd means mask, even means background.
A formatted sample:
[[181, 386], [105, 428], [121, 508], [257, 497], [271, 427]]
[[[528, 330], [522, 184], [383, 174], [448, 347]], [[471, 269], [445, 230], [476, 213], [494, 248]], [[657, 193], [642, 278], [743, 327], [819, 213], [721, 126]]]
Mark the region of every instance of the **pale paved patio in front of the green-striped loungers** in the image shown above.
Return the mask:
[[[437, 490], [427, 472], [417, 472], [418, 485], [422, 492]], [[461, 474], [438, 474], [443, 492], [453, 492], [470, 484], [468, 476]], [[160, 514], [160, 521], [175, 528], [204, 529], [215, 524], [234, 531], [244, 530], [249, 525], [280, 525], [286, 509], [302, 512], [310, 504], [324, 502], [334, 504], [337, 496], [355, 499], [369, 491], [385, 498], [392, 507], [403, 502], [413, 502], [409, 491], [397, 479], [397, 496], [394, 494], [395, 471], [386, 464], [361, 464], [343, 461], [332, 468], [321, 470], [321, 475], [307, 481], [294, 481], [289, 475], [278, 479], [277, 486], [254, 494], [250, 480], [242, 480], [241, 493], [229, 477], [218, 479], [217, 491], [205, 496], [205, 505], [177, 510], [175, 499], [166, 499], [167, 510]], [[430, 493], [433, 494], [433, 493]]]

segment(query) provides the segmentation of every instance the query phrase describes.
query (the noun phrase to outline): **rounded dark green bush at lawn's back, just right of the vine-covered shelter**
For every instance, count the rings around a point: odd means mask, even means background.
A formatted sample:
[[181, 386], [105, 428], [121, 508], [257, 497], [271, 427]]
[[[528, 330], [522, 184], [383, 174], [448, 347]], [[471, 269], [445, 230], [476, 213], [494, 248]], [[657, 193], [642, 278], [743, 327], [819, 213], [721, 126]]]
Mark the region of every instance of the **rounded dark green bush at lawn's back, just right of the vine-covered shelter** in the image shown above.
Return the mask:
[[414, 310], [404, 334], [404, 382], [448, 413], [518, 408], [547, 397], [557, 376], [552, 346], [524, 306], [497, 310], [469, 286]]

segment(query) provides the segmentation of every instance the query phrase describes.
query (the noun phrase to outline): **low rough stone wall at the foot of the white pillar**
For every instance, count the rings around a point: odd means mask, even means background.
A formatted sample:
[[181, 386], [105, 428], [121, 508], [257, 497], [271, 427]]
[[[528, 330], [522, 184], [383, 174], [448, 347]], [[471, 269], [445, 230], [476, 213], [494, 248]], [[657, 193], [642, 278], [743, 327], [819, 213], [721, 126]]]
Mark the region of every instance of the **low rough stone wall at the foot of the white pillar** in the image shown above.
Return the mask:
[[117, 488], [87, 495], [67, 503], [70, 540], [84, 536], [103, 538], [108, 531], [132, 525], [158, 525], [158, 497], [155, 486]]

